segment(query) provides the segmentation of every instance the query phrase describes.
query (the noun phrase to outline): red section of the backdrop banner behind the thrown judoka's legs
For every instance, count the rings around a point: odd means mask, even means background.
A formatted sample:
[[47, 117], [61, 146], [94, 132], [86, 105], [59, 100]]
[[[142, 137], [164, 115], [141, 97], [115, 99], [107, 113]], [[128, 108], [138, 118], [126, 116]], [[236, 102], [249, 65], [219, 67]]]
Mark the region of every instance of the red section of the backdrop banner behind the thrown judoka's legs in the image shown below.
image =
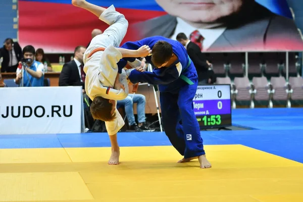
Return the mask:
[[[162, 11], [134, 9], [116, 10], [129, 24], [165, 15]], [[73, 53], [77, 45], [86, 46], [94, 28], [108, 25], [83, 9], [69, 4], [19, 1], [19, 42], [21, 47], [33, 45], [45, 53]], [[124, 41], [132, 40], [136, 31], [128, 30]]]

